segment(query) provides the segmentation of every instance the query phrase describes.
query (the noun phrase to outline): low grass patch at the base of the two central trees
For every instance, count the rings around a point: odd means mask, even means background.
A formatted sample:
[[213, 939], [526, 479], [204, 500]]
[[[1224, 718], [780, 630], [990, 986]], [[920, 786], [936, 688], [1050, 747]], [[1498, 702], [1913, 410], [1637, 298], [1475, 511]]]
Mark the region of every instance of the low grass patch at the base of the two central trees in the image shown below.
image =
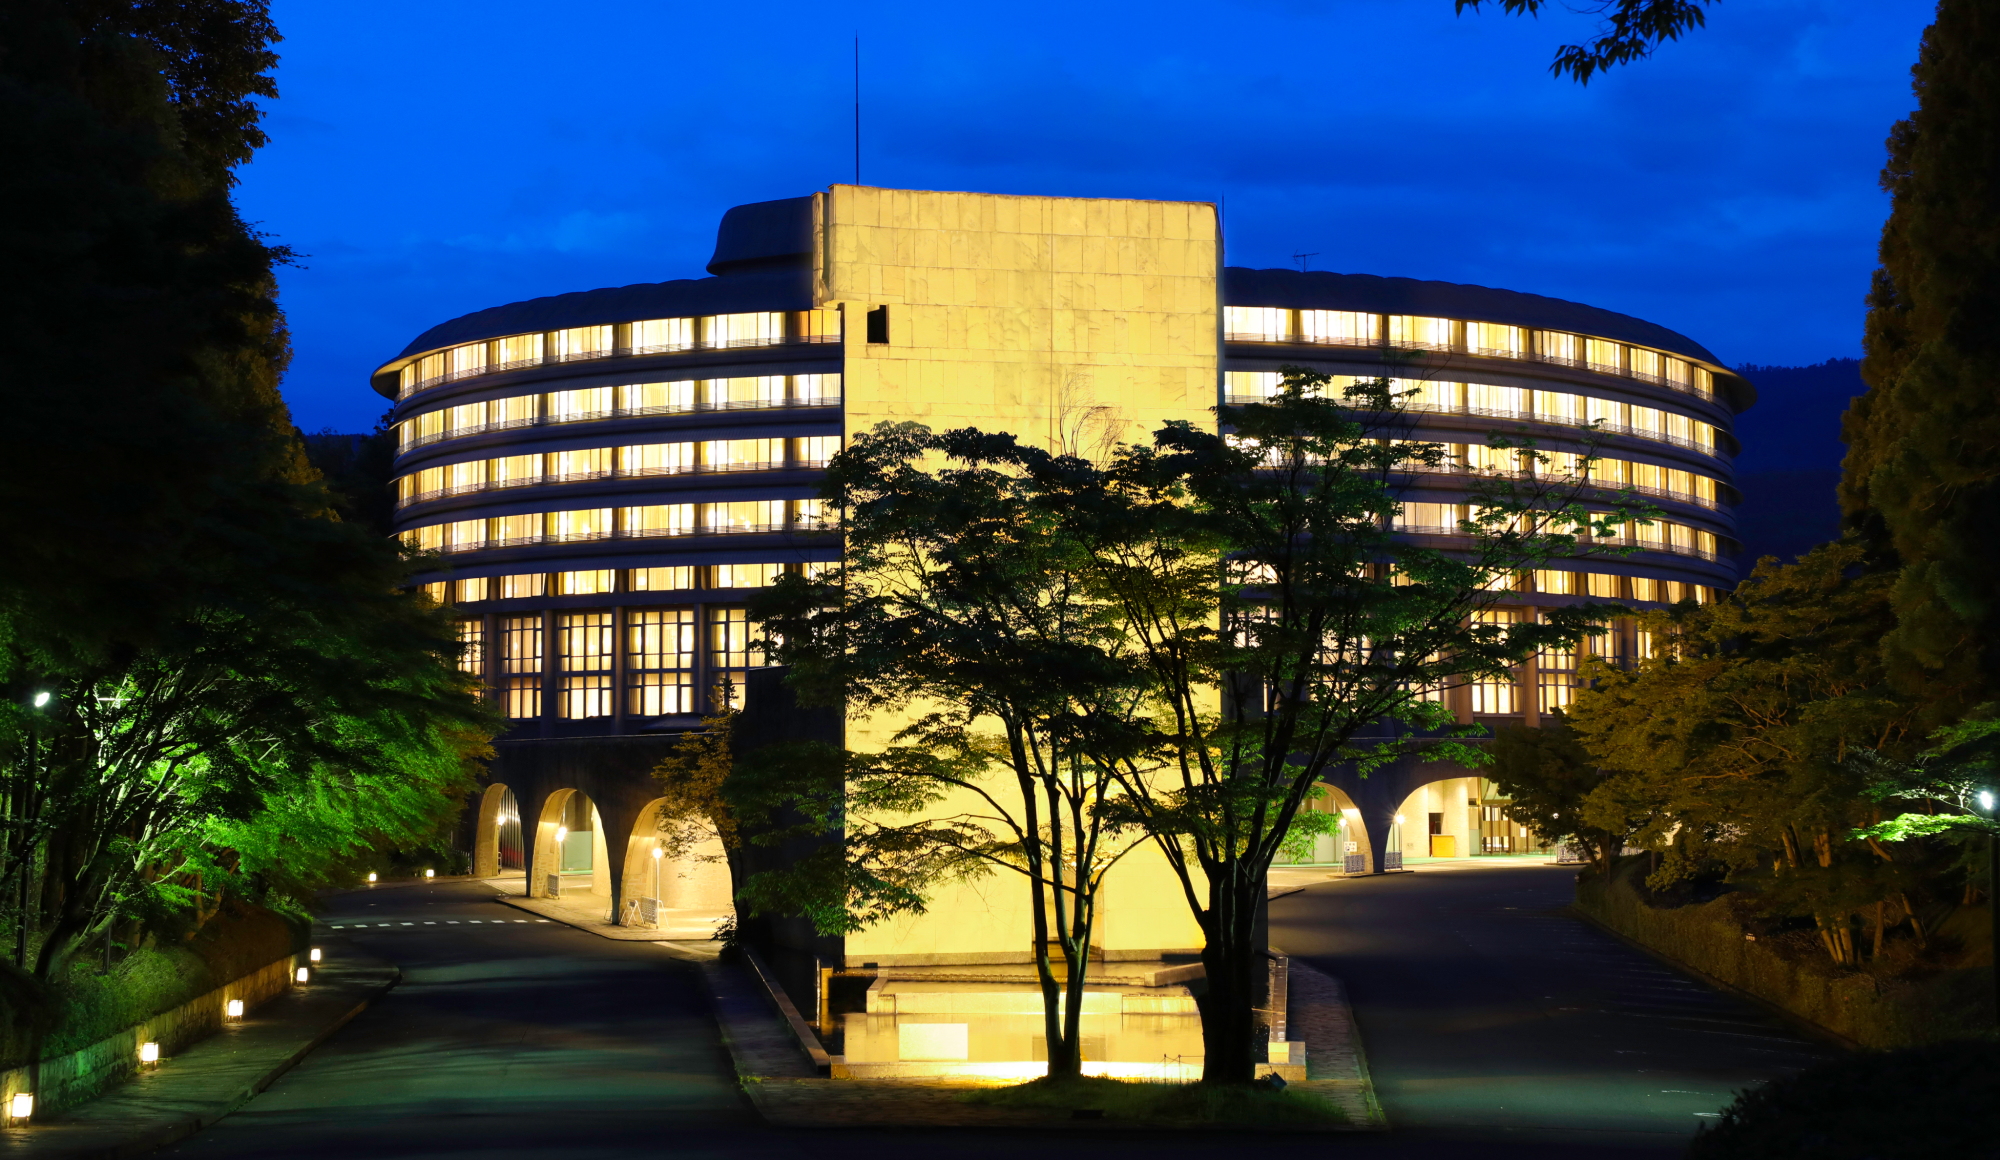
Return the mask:
[[[1346, 1124], [1338, 1106], [1290, 1088], [1264, 1084], [1138, 1084], [1102, 1076], [1028, 1080], [1006, 1088], [978, 1088], [960, 1096], [990, 1108], [1040, 1108], [1048, 1112], [1098, 1112], [1104, 1120], [1150, 1124], [1244, 1124], [1318, 1128]], [[1096, 1116], [1092, 1116], [1096, 1118]]]

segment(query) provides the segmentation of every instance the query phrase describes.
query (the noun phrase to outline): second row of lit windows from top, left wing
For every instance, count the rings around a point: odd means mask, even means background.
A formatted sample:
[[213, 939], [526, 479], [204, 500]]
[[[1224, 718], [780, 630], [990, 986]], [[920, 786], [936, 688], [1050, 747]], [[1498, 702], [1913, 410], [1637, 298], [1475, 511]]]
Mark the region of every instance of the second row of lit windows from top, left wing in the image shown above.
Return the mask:
[[770, 406], [832, 406], [838, 374], [762, 374], [752, 378], [682, 378], [628, 382], [542, 394], [514, 394], [428, 410], [396, 424], [396, 448], [410, 450], [446, 438], [524, 426]]

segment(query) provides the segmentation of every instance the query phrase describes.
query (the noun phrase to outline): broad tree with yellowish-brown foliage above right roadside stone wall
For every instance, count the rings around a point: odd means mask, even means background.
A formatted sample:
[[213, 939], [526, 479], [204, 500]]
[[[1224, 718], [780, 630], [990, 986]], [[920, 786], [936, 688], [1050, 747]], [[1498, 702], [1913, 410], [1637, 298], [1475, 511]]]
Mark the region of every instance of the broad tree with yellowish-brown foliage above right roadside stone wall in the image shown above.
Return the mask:
[[1920, 706], [1884, 686], [1890, 578], [1858, 572], [1862, 554], [1766, 558], [1730, 600], [1650, 616], [1654, 654], [1594, 666], [1568, 712], [1614, 772], [1584, 818], [1650, 816], [1656, 886], [1710, 868], [1754, 882], [1768, 908], [1810, 916], [1842, 966], [1858, 962], [1854, 914], [1904, 894], [1916, 854], [1854, 840], [1882, 820], [1854, 756], [1908, 758], [1922, 738]]

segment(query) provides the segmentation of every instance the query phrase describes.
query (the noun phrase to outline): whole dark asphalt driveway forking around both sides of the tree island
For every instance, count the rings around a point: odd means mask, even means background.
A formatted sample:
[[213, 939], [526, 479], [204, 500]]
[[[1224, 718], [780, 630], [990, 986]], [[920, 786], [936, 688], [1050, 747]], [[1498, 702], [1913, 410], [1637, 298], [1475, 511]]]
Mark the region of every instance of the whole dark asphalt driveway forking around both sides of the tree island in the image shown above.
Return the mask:
[[[1692, 1112], [1812, 1056], [1754, 1012], [1556, 916], [1566, 888], [1562, 872], [1424, 872], [1274, 902], [1276, 942], [1348, 978], [1398, 1130], [1252, 1146], [1370, 1160], [1674, 1156]], [[528, 916], [478, 884], [348, 894], [324, 918], [400, 964], [404, 982], [164, 1156], [1216, 1160], [1246, 1144], [774, 1130], [736, 1088], [700, 968], [658, 944], [518, 922]]]

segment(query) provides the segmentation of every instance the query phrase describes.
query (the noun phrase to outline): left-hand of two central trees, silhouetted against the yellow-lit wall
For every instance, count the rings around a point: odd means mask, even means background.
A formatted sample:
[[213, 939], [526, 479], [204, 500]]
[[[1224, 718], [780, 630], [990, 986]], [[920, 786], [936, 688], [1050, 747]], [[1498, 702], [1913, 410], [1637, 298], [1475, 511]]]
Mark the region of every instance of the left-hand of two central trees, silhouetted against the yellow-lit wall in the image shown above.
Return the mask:
[[844, 564], [782, 580], [752, 616], [804, 700], [862, 714], [868, 748], [772, 754], [730, 796], [782, 798], [838, 834], [838, 856], [744, 890], [754, 906], [804, 908], [826, 934], [922, 910], [944, 882], [1020, 876], [1048, 1074], [1074, 1076], [1098, 896], [1142, 838], [1110, 798], [1112, 762], [1146, 744], [1144, 670], [1034, 488], [1056, 458], [914, 424], [878, 426], [834, 458], [824, 496], [844, 512]]

